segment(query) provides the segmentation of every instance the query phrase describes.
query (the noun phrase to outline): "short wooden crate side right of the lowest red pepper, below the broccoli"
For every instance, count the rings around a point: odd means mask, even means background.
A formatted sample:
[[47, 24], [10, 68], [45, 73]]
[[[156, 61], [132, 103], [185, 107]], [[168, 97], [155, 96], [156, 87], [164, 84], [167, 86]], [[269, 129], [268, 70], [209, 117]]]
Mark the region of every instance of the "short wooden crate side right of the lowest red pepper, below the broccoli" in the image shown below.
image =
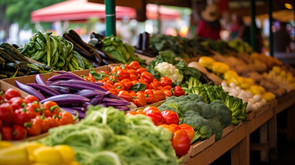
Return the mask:
[[195, 155], [197, 155], [198, 153], [200, 153], [204, 149], [208, 148], [208, 146], [214, 144], [214, 142], [215, 142], [215, 135], [212, 135], [211, 137], [209, 137], [206, 140], [195, 142], [192, 146], [190, 146], [190, 148], [192, 150], [190, 152], [191, 153], [190, 157], [194, 157]]

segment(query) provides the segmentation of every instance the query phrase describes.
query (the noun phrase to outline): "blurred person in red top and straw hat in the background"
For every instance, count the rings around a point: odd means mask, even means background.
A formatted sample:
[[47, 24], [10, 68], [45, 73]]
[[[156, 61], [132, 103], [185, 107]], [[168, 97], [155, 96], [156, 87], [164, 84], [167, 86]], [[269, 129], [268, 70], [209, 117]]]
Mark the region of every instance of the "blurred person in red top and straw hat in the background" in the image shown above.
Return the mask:
[[197, 36], [219, 40], [221, 31], [219, 18], [218, 6], [214, 3], [206, 5], [205, 10], [201, 12], [201, 21], [197, 25]]

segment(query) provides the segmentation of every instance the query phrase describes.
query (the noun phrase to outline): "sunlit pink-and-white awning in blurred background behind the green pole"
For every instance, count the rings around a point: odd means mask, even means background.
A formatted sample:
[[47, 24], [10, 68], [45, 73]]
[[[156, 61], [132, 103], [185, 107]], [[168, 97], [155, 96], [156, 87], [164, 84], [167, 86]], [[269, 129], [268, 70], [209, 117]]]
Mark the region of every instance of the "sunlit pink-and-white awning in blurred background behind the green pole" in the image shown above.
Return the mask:
[[[157, 19], [157, 5], [146, 5], [146, 17]], [[133, 8], [116, 6], [116, 19], [128, 17], [134, 19]], [[79, 21], [91, 17], [105, 19], [105, 4], [90, 3], [87, 0], [68, 0], [35, 10], [31, 13], [32, 22]], [[170, 8], [160, 7], [160, 19], [177, 19], [181, 13]]]

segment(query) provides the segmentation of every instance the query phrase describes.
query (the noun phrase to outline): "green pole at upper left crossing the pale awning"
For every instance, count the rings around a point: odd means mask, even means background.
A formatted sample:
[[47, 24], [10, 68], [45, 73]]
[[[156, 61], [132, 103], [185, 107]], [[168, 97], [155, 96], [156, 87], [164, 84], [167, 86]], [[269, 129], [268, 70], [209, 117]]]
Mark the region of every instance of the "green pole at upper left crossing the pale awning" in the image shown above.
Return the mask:
[[116, 0], [105, 0], [106, 36], [116, 36]]

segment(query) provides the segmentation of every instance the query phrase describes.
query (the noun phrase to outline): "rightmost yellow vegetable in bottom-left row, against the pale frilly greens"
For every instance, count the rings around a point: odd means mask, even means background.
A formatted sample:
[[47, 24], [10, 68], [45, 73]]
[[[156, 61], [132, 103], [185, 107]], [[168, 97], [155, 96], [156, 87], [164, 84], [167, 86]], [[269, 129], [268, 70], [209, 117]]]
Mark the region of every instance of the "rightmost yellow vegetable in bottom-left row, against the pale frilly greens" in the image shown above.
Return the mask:
[[58, 145], [54, 146], [54, 148], [61, 153], [61, 157], [63, 157], [63, 164], [69, 164], [75, 160], [74, 150], [67, 145]]

